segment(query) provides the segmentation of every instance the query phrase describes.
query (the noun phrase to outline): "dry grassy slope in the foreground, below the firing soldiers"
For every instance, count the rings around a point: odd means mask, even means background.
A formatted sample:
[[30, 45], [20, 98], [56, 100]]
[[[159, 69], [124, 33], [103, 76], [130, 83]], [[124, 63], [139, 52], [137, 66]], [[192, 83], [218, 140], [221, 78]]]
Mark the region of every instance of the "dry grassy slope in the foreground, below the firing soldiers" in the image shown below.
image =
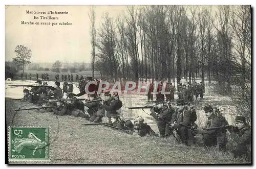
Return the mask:
[[[50, 163], [84, 164], [214, 164], [248, 163], [215, 148], [186, 147], [172, 138], [139, 137], [103, 126], [82, 126], [84, 118], [55, 116], [52, 112], [15, 109], [33, 104], [6, 99], [7, 127], [50, 126]], [[7, 146], [7, 145], [6, 145]], [[70, 160], [59, 160], [66, 159]], [[79, 160], [73, 160], [79, 159]], [[15, 163], [15, 162], [12, 162]], [[38, 163], [38, 162], [27, 162]], [[49, 163], [49, 162], [45, 162]]]

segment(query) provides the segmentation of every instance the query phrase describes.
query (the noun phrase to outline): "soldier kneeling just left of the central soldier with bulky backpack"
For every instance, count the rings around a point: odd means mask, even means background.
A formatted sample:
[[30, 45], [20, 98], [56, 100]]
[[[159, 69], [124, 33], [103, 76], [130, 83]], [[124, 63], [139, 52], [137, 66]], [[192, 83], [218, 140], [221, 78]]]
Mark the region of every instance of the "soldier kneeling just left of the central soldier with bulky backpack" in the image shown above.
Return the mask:
[[[91, 94], [90, 95], [90, 100], [91, 101], [96, 101], [96, 100], [100, 100], [100, 98], [97, 96], [97, 94]], [[88, 107], [89, 109], [87, 110], [87, 112], [89, 113], [90, 117], [93, 118], [94, 114], [101, 109], [101, 104], [100, 101], [97, 102], [85, 102], [84, 106]], [[93, 122], [94, 119], [90, 119], [91, 122]]]

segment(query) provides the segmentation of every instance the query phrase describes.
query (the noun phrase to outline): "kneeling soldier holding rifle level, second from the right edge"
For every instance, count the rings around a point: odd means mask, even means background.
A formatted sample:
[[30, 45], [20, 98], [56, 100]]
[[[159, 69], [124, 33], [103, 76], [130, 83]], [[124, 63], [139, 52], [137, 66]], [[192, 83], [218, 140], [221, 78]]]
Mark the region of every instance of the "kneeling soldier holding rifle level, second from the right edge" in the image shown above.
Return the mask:
[[[221, 127], [224, 125], [223, 119], [215, 115], [214, 110], [210, 105], [204, 107], [204, 112], [208, 118], [206, 128]], [[226, 122], [225, 122], [226, 123]], [[227, 143], [226, 130], [202, 130], [195, 129], [196, 133], [202, 134], [205, 146], [218, 146], [219, 150], [225, 150]]]

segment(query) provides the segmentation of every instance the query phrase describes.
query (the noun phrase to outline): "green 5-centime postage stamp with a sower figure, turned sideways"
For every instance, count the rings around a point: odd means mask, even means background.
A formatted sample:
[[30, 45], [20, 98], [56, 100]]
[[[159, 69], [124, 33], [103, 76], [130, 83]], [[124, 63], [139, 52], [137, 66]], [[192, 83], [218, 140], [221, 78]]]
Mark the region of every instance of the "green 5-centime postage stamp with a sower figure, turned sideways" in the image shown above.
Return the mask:
[[50, 160], [50, 127], [9, 127], [9, 161]]

